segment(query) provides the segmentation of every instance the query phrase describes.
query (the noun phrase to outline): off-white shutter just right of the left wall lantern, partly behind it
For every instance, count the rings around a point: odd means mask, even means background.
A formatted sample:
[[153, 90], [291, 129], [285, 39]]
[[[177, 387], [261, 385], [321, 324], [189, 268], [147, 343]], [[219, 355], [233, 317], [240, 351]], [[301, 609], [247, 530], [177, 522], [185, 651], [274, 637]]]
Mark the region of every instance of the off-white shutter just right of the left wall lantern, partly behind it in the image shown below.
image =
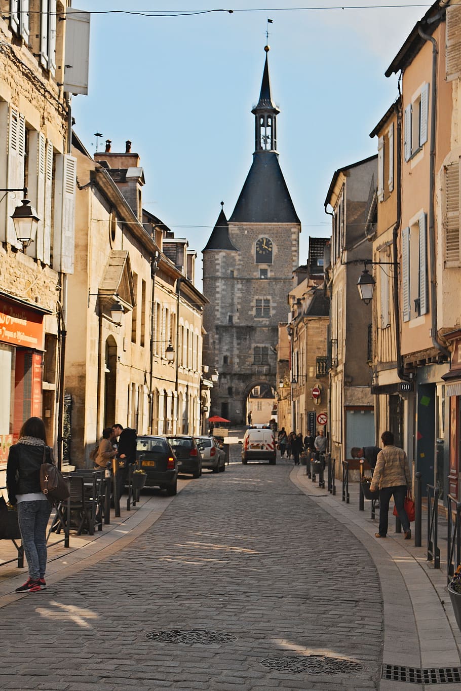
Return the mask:
[[37, 210], [39, 223], [37, 236], [27, 248], [29, 256], [44, 261], [44, 218], [45, 218], [45, 151], [46, 142], [41, 132], [30, 131], [28, 151], [28, 198]]

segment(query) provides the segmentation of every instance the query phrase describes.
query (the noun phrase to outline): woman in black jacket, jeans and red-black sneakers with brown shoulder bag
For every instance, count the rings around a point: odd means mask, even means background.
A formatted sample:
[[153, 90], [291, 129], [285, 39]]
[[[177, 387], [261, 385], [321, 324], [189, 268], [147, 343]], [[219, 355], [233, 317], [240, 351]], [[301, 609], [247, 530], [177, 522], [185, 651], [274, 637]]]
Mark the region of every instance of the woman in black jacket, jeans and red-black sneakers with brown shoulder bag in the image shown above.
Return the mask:
[[53, 461], [46, 446], [41, 417], [30, 417], [19, 432], [17, 444], [10, 446], [6, 484], [10, 504], [17, 504], [19, 529], [29, 567], [29, 578], [17, 593], [35, 593], [46, 588], [46, 527], [51, 504], [40, 488], [40, 466]]

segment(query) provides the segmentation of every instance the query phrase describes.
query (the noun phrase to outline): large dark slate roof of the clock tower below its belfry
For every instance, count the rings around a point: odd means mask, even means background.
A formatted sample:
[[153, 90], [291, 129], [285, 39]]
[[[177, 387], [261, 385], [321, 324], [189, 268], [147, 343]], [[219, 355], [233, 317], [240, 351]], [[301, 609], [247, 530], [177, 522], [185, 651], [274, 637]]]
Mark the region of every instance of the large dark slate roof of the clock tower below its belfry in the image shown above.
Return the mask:
[[301, 223], [275, 151], [255, 151], [229, 223]]

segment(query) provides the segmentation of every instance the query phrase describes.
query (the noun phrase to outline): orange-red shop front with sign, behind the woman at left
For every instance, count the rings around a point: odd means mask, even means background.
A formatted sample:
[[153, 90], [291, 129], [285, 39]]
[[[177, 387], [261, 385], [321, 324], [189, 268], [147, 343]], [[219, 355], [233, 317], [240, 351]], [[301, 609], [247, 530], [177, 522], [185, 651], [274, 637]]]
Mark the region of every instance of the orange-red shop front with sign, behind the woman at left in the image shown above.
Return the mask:
[[42, 415], [44, 314], [0, 297], [0, 469], [32, 415]]

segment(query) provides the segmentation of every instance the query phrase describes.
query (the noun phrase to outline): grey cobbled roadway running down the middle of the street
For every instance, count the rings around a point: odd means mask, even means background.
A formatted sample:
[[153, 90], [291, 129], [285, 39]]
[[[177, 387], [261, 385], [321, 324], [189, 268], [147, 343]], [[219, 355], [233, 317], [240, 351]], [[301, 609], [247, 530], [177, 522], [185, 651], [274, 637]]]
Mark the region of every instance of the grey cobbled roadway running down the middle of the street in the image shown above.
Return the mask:
[[[226, 473], [204, 473], [131, 545], [3, 607], [0, 688], [379, 688], [375, 565], [290, 482], [290, 469], [231, 464]], [[145, 637], [193, 628], [237, 641]], [[261, 665], [306, 654], [362, 669], [300, 674]]]

